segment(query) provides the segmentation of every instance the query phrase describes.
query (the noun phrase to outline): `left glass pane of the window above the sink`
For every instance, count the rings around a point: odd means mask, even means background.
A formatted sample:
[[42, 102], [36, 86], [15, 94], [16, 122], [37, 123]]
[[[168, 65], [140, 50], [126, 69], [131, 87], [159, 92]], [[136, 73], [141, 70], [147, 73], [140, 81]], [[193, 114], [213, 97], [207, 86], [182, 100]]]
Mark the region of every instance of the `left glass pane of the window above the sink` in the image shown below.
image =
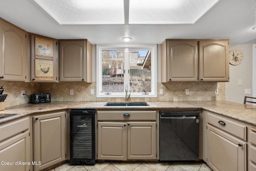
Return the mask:
[[102, 50], [102, 92], [124, 92], [123, 50]]

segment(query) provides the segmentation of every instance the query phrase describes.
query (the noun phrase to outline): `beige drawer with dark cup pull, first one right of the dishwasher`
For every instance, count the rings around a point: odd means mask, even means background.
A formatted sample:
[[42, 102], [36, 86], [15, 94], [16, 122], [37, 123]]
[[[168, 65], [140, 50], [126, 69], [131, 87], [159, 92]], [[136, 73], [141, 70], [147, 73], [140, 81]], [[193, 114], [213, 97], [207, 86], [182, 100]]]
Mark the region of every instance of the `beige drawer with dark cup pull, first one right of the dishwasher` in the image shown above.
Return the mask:
[[246, 140], [246, 126], [230, 121], [224, 117], [217, 116], [216, 114], [207, 111], [207, 121], [232, 135]]

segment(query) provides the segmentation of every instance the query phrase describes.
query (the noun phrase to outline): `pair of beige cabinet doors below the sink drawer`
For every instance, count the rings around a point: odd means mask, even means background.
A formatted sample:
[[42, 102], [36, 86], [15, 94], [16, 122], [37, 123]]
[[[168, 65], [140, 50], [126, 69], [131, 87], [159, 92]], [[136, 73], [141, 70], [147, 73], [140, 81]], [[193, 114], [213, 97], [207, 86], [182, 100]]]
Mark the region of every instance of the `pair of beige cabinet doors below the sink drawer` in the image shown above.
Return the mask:
[[98, 159], [156, 159], [156, 122], [98, 122]]

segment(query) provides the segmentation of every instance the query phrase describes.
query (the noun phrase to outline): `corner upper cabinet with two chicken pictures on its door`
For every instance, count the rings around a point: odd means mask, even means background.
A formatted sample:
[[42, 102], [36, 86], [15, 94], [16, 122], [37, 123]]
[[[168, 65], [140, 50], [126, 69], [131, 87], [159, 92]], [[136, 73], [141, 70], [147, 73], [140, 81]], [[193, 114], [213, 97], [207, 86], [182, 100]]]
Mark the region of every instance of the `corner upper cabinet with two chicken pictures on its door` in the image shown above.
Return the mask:
[[58, 82], [57, 40], [30, 35], [30, 55], [31, 82]]

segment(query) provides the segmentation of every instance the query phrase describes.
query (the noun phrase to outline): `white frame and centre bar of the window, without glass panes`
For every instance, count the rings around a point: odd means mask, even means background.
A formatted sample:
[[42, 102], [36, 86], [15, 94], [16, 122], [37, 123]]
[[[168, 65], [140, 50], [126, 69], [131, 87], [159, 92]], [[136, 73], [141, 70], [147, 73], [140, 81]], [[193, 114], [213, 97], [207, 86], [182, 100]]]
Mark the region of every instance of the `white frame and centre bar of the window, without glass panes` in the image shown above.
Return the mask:
[[[113, 45], [96, 45], [96, 97], [125, 97], [125, 86], [127, 82], [130, 82], [128, 72], [124, 76], [124, 92], [121, 93], [113, 93], [105, 94], [106, 92], [102, 91], [102, 50], [124, 50], [124, 69], [127, 70], [129, 68], [130, 58], [129, 58], [129, 50], [151, 50], [151, 92], [143, 93], [132, 93], [130, 97], [157, 97], [157, 48], [156, 44], [134, 44], [134, 45], [126, 45], [126, 44], [113, 44]], [[126, 57], [127, 56], [127, 57]], [[128, 64], [128, 65], [127, 65]], [[130, 85], [128, 85], [128, 89], [130, 89]]]

